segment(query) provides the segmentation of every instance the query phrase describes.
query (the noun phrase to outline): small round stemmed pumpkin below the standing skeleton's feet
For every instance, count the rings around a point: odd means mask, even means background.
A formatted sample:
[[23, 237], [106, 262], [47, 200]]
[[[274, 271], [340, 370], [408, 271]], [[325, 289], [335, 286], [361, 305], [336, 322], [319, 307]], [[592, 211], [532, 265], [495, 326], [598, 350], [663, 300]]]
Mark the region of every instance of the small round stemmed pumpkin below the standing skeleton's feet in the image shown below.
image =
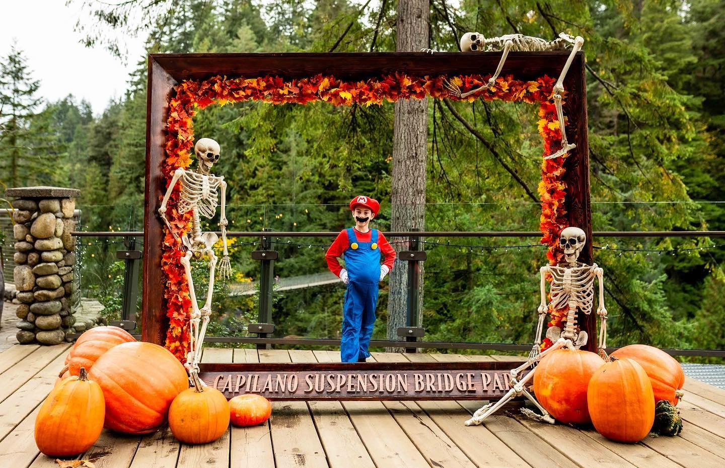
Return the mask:
[[194, 388], [179, 393], [169, 409], [169, 427], [184, 443], [210, 443], [229, 427], [229, 403], [216, 388], [205, 387], [196, 373]]

